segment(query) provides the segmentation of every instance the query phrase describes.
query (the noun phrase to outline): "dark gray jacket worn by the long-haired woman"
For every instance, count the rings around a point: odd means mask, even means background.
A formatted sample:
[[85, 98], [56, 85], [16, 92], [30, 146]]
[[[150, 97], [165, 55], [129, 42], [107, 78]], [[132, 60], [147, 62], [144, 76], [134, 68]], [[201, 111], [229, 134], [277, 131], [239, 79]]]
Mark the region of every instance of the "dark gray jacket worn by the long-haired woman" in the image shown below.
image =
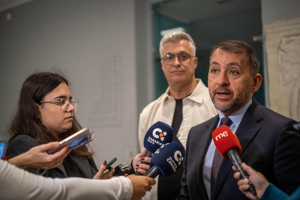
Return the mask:
[[[38, 145], [40, 144], [36, 139], [33, 139], [32, 137], [26, 135], [20, 135], [17, 136], [9, 143], [5, 155], [9, 157], [15, 157], [22, 153], [25, 153], [26, 151], [29, 151], [29, 149]], [[80, 169], [80, 171], [85, 176], [85, 178], [93, 178], [98, 172], [98, 169], [96, 167], [93, 158], [86, 159], [76, 155], [72, 155], [72, 158], [76, 166]], [[32, 172], [34, 174], [37, 171], [37, 169], [34, 168], [27, 168], [25, 170]], [[41, 172], [43, 172], [43, 170], [41, 170]], [[57, 168], [47, 170], [44, 176], [52, 177], [52, 178], [57, 178], [57, 177], [65, 178], [67, 177], [67, 174], [64, 169], [64, 166], [61, 164]]]

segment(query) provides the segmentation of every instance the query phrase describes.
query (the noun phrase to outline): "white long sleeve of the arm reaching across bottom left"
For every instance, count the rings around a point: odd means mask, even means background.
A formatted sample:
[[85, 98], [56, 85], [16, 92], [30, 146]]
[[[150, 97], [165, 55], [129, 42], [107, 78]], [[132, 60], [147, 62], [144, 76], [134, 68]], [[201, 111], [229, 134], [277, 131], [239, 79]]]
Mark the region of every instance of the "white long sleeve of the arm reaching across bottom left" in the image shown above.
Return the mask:
[[0, 159], [0, 199], [125, 199], [133, 194], [129, 178], [108, 180], [45, 178]]

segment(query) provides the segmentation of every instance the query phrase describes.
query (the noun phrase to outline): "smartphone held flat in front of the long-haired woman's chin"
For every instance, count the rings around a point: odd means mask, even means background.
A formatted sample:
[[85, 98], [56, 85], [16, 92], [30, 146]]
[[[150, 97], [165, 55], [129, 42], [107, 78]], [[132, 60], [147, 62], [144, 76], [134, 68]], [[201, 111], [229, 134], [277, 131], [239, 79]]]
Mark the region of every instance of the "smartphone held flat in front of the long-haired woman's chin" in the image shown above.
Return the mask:
[[73, 135], [63, 139], [62, 141], [59, 142], [59, 146], [48, 150], [48, 154], [54, 154], [58, 151], [60, 151], [64, 146], [70, 145], [70, 148], [77, 145], [79, 142], [81, 142], [83, 139], [87, 138], [90, 135], [90, 131], [88, 130], [87, 127], [77, 131]]

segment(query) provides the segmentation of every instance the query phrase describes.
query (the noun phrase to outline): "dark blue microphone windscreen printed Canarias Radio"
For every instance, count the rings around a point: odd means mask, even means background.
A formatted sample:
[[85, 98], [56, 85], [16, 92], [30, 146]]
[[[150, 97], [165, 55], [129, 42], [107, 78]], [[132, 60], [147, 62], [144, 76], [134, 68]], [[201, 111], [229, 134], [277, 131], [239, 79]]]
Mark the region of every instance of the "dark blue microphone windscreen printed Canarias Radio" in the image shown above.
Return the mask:
[[148, 129], [144, 138], [144, 147], [153, 153], [161, 146], [172, 142], [172, 138], [173, 128], [164, 122], [158, 121]]

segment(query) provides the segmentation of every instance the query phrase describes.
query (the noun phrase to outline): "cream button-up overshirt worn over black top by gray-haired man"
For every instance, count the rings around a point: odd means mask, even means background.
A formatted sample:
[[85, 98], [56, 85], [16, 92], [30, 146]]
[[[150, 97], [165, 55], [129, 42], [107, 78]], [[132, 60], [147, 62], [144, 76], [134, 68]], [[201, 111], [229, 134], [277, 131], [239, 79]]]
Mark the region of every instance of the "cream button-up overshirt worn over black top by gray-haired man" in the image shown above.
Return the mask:
[[[208, 88], [201, 79], [196, 79], [196, 81], [198, 84], [192, 94], [182, 100], [182, 123], [176, 136], [184, 148], [190, 128], [218, 114], [209, 96]], [[172, 125], [176, 100], [169, 93], [170, 88], [167, 88], [164, 94], [149, 103], [140, 114], [138, 137], [141, 151], [144, 150], [145, 134], [155, 122], [162, 121]], [[158, 183], [158, 177], [155, 180]], [[157, 200], [157, 189], [158, 184], [154, 185], [149, 193], [146, 193], [143, 200]]]

